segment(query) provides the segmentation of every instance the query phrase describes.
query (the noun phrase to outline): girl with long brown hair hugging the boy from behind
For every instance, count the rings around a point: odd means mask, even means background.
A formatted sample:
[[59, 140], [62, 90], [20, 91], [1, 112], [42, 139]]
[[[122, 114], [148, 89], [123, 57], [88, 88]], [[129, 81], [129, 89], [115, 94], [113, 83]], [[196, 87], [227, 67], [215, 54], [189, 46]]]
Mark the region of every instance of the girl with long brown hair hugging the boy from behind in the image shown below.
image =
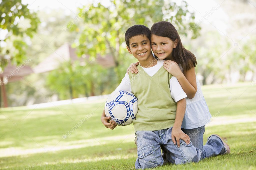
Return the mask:
[[[178, 79], [187, 94], [186, 112], [181, 128], [189, 135], [193, 145], [203, 151], [205, 124], [210, 122], [211, 114], [196, 77], [196, 57], [184, 48], [177, 30], [173, 24], [166, 21], [157, 22], [152, 26], [151, 48], [155, 57], [166, 60], [163, 67]], [[129, 71], [137, 74], [138, 64], [139, 62], [131, 64], [127, 74]]]

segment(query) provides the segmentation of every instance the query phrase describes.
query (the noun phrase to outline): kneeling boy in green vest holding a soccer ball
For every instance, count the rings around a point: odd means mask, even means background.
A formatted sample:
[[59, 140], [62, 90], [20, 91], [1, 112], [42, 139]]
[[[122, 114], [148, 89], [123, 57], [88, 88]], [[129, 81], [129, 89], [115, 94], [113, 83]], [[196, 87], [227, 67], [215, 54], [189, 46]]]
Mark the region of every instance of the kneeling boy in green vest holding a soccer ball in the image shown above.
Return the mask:
[[[189, 143], [189, 137], [180, 129], [187, 95], [176, 77], [163, 68], [163, 60], [153, 57], [150, 30], [144, 25], [134, 25], [126, 31], [125, 41], [129, 53], [140, 62], [139, 75], [126, 74], [116, 88], [131, 91], [138, 99], [139, 110], [133, 121], [138, 154], [135, 168], [163, 165], [160, 145], [168, 151], [171, 163], [198, 162], [201, 151]], [[108, 119], [103, 110], [102, 123], [114, 129], [115, 122], [108, 123]]]

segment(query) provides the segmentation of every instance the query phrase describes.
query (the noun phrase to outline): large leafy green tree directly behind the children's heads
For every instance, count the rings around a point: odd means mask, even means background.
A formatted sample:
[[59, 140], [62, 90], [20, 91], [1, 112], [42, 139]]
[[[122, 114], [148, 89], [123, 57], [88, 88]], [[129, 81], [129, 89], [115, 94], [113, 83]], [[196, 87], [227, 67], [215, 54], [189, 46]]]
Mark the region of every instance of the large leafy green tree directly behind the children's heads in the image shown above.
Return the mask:
[[[195, 18], [187, 6], [186, 2], [177, 5], [175, 2], [150, 0], [110, 0], [108, 5], [97, 3], [84, 6], [79, 9], [78, 14], [84, 24], [78, 43], [74, 45], [77, 55], [89, 54], [91, 58], [95, 58], [97, 54], [111, 54], [115, 62], [115, 73], [120, 81], [123, 77], [123, 64], [134, 61], [127, 56], [125, 31], [135, 24], [150, 27], [154, 22], [166, 20], [172, 22], [180, 34], [187, 35]], [[74, 22], [68, 28], [71, 31], [79, 30], [78, 23]], [[198, 30], [200, 27], [192, 30], [193, 38], [198, 35]]]

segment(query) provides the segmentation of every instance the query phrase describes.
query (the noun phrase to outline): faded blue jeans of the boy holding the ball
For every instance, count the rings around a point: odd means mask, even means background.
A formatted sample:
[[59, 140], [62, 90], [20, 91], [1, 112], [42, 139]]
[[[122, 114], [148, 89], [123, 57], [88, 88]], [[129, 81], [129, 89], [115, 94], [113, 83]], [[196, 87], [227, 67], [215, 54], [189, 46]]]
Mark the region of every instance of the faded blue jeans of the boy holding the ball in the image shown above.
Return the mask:
[[137, 135], [137, 154], [135, 162], [136, 169], [153, 168], [164, 163], [161, 155], [162, 145], [167, 150], [166, 159], [170, 163], [184, 164], [198, 162], [201, 157], [201, 150], [189, 145], [180, 139], [180, 147], [174, 145], [172, 141], [172, 127], [154, 131], [136, 131]]

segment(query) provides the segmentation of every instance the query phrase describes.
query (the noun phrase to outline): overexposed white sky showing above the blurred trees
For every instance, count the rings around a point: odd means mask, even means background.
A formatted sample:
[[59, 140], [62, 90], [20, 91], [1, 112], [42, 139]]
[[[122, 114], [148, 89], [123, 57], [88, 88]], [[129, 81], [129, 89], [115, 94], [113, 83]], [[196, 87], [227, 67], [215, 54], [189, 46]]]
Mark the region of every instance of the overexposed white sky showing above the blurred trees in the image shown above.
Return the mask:
[[[168, 1], [168, 0], [165, 0]], [[224, 0], [223, 0], [224, 1]], [[22, 0], [22, 3], [29, 4], [28, 8], [31, 10], [40, 10], [48, 8], [50, 9], [63, 9], [67, 14], [76, 14], [77, 7], [82, 7], [83, 5], [88, 5], [92, 3], [104, 3], [108, 4], [107, 0]], [[176, 0], [177, 4], [180, 0]], [[189, 10], [195, 11], [196, 21], [204, 16], [206, 13], [212, 14], [208, 15], [207, 19], [204, 20], [204, 23], [209, 24], [208, 22], [218, 25], [218, 29], [223, 33], [226, 32], [227, 21], [229, 17], [221, 9], [221, 4], [218, 7], [218, 2], [214, 0], [201, 1], [201, 0], [186, 0], [189, 4]], [[103, 4], [103, 5], [104, 5]], [[212, 8], [215, 7], [217, 10], [212, 12]], [[74, 15], [75, 15], [74, 14]]]

